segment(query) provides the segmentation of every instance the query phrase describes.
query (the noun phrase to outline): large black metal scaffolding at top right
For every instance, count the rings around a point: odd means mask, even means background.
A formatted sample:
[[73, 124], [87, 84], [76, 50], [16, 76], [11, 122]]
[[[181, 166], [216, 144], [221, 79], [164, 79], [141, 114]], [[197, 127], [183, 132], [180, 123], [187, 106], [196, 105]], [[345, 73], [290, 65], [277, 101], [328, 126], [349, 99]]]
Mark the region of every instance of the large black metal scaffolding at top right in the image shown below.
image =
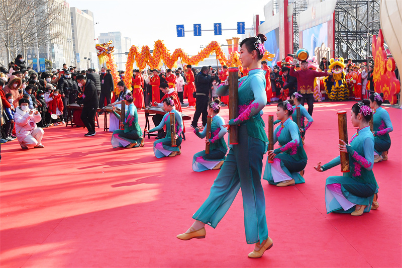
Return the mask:
[[380, 0], [338, 0], [335, 7], [335, 56], [367, 61], [371, 37], [378, 34]]

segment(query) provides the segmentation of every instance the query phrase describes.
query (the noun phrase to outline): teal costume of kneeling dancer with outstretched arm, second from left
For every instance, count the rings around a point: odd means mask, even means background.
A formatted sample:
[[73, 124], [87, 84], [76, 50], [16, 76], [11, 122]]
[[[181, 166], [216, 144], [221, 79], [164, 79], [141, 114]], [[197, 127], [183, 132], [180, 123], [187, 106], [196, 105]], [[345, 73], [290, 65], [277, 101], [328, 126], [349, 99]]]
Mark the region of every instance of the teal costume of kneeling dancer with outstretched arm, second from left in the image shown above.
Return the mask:
[[163, 116], [162, 121], [159, 123], [158, 126], [156, 126], [153, 129], [149, 130], [149, 132], [155, 132], [155, 131], [161, 130], [163, 128], [163, 126], [166, 125], [166, 136], [163, 139], [159, 139], [159, 140], [156, 140], [154, 142], [154, 153], [155, 153], [155, 156], [157, 158], [162, 158], [162, 157], [165, 156], [164, 154], [160, 153], [160, 151], [155, 150], [155, 146], [158, 143], [162, 143], [163, 149], [165, 149], [167, 151], [172, 151], [172, 152], [179, 152], [180, 151], [179, 146], [181, 144], [181, 139], [182, 139], [180, 135], [181, 135], [181, 132], [183, 132], [183, 120], [181, 119], [181, 114], [177, 110], [172, 109], [172, 111], [170, 113], [174, 113], [174, 118], [175, 118], [175, 121], [176, 121], [176, 125], [175, 125], [176, 134], [177, 134], [177, 136], [179, 136], [177, 138], [177, 140], [176, 140], [176, 147], [172, 147], [172, 138], [171, 138], [171, 131], [170, 131], [170, 115], [169, 115], [169, 113], [166, 113]]

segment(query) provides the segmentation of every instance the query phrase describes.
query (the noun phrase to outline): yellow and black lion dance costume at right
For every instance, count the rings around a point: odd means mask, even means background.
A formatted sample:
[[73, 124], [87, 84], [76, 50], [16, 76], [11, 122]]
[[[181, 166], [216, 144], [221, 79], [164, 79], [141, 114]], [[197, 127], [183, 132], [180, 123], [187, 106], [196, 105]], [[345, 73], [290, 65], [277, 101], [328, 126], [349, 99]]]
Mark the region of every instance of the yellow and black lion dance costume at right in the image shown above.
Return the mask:
[[324, 79], [327, 96], [330, 101], [346, 101], [349, 98], [349, 89], [345, 80], [344, 59], [330, 59], [331, 65], [328, 67], [328, 72], [332, 72]]

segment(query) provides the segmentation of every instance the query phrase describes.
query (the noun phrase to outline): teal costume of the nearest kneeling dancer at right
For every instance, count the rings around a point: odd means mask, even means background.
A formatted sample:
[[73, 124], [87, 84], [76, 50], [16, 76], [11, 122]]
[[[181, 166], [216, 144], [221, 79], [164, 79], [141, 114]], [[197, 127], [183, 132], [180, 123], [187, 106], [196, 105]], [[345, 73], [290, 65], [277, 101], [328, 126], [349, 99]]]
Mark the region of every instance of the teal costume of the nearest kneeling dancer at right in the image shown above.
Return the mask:
[[[374, 137], [370, 127], [364, 127], [352, 136], [346, 146], [349, 155], [349, 172], [342, 176], [330, 176], [326, 185], [340, 184], [342, 195], [350, 202], [367, 206], [364, 212], [369, 212], [373, 201], [374, 192], [378, 189], [377, 182], [372, 171], [374, 163]], [[340, 156], [322, 166], [323, 171], [341, 163]], [[326, 188], [326, 191], [328, 189]], [[326, 200], [327, 213], [352, 213], [354, 208], [343, 210], [334, 199]]]

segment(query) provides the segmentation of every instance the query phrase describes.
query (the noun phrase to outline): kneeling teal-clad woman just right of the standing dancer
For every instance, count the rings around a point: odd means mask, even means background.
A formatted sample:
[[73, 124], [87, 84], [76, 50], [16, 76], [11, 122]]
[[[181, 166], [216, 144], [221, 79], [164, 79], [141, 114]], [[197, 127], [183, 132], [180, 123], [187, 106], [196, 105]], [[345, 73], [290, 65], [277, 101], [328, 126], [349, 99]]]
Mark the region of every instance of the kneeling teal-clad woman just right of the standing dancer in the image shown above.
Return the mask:
[[300, 175], [306, 167], [307, 155], [300, 142], [300, 132], [297, 124], [292, 121], [294, 113], [293, 100], [278, 103], [276, 116], [281, 121], [273, 133], [274, 144], [278, 141], [282, 146], [268, 151], [268, 156], [273, 155], [273, 163], [265, 165], [264, 180], [278, 187], [304, 184], [305, 179]]

